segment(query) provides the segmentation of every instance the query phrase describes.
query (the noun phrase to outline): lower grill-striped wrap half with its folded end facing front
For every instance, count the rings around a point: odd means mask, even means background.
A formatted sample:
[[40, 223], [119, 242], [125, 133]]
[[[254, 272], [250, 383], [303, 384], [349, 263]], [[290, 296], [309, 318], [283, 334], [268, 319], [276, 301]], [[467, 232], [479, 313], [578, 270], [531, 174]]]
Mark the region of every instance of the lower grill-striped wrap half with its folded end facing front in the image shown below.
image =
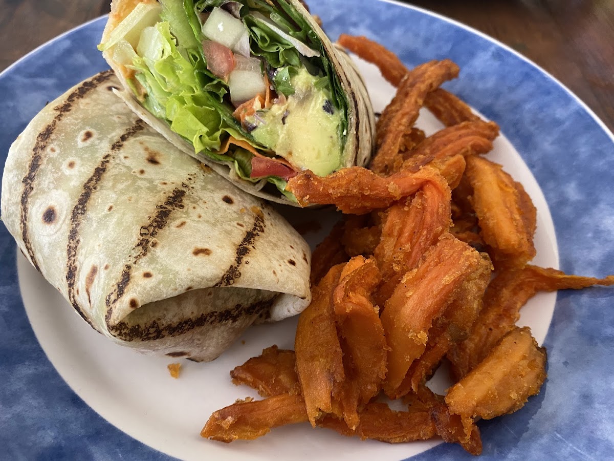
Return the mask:
[[262, 200], [180, 154], [118, 98], [112, 71], [49, 103], [11, 146], [2, 221], [93, 328], [216, 358], [310, 301], [309, 247]]

